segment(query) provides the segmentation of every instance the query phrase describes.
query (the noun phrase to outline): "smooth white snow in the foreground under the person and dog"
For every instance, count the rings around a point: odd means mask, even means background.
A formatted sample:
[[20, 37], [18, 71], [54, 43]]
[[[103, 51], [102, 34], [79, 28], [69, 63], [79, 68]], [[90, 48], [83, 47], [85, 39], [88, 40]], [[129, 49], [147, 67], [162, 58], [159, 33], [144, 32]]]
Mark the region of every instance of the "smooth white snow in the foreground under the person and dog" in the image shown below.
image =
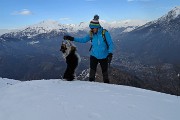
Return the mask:
[[0, 78], [0, 120], [180, 120], [179, 111], [177, 96], [128, 86]]

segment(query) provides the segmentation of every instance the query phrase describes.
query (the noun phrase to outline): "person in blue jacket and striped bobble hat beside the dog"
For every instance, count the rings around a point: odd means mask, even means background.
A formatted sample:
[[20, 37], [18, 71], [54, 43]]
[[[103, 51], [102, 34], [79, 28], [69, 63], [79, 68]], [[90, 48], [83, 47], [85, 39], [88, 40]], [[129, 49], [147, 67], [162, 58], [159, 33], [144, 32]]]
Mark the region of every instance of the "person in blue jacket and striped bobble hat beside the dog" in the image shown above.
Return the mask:
[[108, 64], [113, 57], [114, 44], [109, 32], [99, 24], [99, 16], [95, 15], [89, 24], [90, 33], [83, 38], [64, 36], [65, 40], [86, 43], [91, 40], [90, 48], [90, 74], [89, 81], [95, 81], [95, 74], [98, 63], [100, 63], [103, 81], [109, 83]]

